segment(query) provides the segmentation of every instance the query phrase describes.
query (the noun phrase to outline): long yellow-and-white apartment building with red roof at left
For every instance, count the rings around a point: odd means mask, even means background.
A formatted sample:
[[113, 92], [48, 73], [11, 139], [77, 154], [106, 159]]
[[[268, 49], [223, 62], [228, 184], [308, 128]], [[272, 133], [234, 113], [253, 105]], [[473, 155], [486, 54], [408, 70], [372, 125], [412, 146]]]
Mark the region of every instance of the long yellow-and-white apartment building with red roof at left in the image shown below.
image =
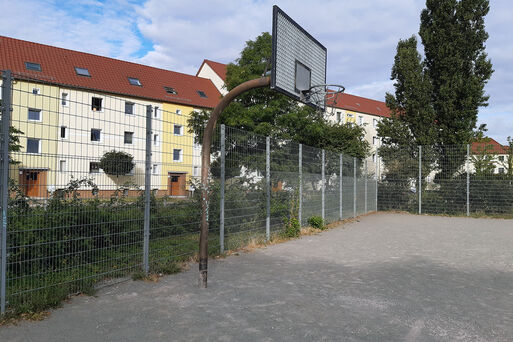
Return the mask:
[[[187, 119], [218, 103], [210, 79], [3, 36], [0, 69], [14, 77], [12, 125], [23, 134], [10, 173], [27, 196], [44, 198], [84, 177], [104, 196], [123, 185], [136, 191], [144, 184], [147, 115], [152, 188], [187, 195], [200, 168]], [[133, 156], [131, 172], [99, 168], [112, 150]]]

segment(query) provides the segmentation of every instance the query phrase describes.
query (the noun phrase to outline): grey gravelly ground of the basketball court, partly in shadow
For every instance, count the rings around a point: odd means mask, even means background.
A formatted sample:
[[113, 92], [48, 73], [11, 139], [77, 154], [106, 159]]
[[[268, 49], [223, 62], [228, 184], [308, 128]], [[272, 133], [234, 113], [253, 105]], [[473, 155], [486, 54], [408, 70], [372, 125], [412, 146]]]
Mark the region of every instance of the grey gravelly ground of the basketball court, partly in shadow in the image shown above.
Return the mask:
[[80, 296], [0, 341], [512, 341], [513, 220], [379, 213]]

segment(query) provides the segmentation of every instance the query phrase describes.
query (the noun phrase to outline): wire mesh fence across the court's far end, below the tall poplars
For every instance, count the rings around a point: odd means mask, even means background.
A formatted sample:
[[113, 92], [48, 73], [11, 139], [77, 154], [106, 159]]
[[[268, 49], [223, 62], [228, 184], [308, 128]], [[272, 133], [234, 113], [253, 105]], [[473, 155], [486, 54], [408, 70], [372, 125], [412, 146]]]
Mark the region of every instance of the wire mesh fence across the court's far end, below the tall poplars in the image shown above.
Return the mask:
[[382, 147], [379, 210], [513, 218], [513, 149], [495, 142]]

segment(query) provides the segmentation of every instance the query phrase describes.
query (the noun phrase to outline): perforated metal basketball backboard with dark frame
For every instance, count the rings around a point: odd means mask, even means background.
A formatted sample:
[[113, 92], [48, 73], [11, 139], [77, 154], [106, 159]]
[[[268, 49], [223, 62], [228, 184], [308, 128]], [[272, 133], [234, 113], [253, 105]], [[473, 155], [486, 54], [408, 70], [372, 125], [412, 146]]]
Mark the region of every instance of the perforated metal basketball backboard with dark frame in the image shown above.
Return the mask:
[[327, 55], [321, 43], [273, 6], [271, 89], [323, 109], [324, 94], [309, 94], [308, 90], [326, 84]]

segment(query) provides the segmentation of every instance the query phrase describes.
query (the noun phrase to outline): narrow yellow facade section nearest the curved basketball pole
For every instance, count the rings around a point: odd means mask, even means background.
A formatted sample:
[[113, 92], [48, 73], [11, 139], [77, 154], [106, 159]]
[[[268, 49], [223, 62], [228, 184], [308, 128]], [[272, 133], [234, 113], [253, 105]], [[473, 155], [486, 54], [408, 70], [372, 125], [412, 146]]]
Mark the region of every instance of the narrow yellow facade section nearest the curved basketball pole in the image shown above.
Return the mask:
[[[170, 174], [176, 173], [185, 175], [186, 189], [188, 190], [193, 167], [194, 136], [188, 132], [187, 120], [194, 109], [169, 103], [164, 103], [162, 109], [162, 181], [159, 189], [167, 189]], [[175, 133], [175, 125], [182, 127], [181, 134]], [[173, 158], [175, 149], [181, 150], [180, 161]]]

